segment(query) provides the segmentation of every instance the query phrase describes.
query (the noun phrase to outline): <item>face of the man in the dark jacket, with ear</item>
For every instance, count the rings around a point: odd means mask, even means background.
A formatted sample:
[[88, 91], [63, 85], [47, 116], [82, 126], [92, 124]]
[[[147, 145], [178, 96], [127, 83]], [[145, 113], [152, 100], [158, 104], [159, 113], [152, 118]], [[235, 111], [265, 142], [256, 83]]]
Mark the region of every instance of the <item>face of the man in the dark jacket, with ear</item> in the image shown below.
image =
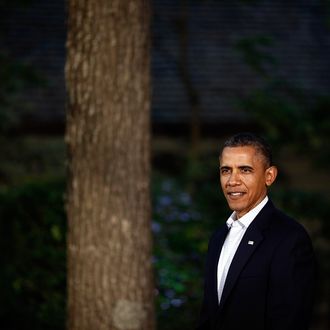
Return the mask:
[[266, 168], [263, 156], [252, 146], [226, 147], [220, 156], [221, 188], [237, 218], [264, 199], [276, 174], [276, 167]]

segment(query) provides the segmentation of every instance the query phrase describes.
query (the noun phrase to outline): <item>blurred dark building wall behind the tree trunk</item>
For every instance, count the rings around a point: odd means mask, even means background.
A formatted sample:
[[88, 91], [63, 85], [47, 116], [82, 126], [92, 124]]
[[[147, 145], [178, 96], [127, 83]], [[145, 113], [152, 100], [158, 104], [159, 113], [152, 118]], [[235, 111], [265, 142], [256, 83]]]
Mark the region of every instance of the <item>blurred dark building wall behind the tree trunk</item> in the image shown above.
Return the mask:
[[[182, 131], [191, 119], [209, 132], [249, 126], [240, 100], [270, 80], [326, 94], [329, 11], [321, 0], [153, 0], [155, 133]], [[15, 89], [20, 129], [63, 132], [65, 2], [13, 2], [0, 15], [2, 57], [39, 77]]]

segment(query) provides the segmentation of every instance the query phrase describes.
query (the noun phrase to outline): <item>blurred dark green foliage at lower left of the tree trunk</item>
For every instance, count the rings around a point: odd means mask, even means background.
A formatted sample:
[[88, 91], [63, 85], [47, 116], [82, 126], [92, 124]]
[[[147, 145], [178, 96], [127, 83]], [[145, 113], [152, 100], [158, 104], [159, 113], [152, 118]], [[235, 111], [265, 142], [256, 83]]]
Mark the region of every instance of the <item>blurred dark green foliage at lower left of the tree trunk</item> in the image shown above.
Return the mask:
[[2, 329], [64, 329], [64, 180], [0, 190]]

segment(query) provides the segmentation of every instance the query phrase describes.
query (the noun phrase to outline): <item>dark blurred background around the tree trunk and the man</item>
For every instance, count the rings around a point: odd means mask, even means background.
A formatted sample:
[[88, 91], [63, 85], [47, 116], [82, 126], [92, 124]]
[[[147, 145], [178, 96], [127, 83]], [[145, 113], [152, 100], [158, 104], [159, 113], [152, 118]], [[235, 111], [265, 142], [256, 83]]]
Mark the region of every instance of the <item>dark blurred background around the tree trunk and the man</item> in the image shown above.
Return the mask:
[[[329, 1], [153, 0], [152, 229], [158, 329], [193, 328], [210, 233], [229, 215], [223, 140], [263, 134], [277, 206], [319, 260], [329, 329]], [[63, 1], [0, 1], [0, 327], [65, 328]]]

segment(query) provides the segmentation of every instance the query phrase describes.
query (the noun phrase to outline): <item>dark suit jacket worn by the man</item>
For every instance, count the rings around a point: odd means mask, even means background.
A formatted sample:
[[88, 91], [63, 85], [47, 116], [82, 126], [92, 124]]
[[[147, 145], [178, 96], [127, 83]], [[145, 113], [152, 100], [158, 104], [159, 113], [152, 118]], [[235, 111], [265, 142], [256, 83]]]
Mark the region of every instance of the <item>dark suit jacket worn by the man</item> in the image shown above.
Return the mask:
[[268, 201], [242, 238], [219, 305], [217, 265], [226, 227], [209, 243], [198, 330], [308, 329], [315, 257], [305, 229]]

